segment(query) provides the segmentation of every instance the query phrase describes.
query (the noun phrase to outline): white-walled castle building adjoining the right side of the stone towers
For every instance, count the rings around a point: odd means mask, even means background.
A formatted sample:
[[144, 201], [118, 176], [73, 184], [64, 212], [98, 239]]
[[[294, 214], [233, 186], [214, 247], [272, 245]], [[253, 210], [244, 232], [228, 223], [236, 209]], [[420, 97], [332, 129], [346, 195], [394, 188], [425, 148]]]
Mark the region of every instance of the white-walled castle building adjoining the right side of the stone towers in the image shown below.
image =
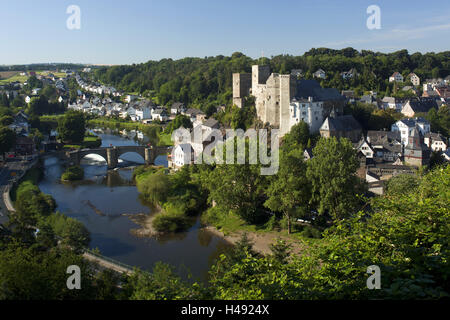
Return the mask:
[[290, 113], [289, 128], [303, 121], [308, 124], [311, 133], [317, 133], [323, 123], [323, 101], [313, 101], [312, 97], [302, 100], [294, 98], [290, 103]]

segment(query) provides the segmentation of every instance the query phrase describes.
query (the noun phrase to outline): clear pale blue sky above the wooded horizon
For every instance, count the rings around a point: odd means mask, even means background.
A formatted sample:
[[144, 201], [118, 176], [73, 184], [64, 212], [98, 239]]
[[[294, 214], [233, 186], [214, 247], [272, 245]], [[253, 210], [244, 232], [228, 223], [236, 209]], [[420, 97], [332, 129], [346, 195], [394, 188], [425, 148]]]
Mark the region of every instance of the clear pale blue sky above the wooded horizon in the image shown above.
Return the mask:
[[[369, 5], [381, 29], [366, 27]], [[69, 5], [81, 29], [69, 30]], [[450, 1], [0, 0], [0, 65], [300, 55], [312, 47], [450, 50]]]

